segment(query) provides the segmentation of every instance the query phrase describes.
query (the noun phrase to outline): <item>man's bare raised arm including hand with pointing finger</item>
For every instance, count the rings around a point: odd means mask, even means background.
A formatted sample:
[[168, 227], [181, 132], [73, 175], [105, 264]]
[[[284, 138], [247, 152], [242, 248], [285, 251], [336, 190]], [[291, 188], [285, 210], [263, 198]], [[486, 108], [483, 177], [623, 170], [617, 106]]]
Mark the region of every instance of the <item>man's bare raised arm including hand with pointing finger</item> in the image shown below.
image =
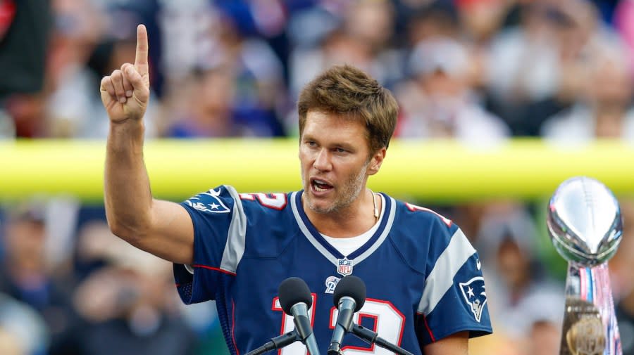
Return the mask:
[[137, 27], [135, 64], [101, 79], [101, 101], [110, 118], [104, 202], [111, 231], [139, 249], [191, 264], [192, 219], [183, 207], [155, 200], [143, 162], [143, 115], [149, 103], [147, 30]]

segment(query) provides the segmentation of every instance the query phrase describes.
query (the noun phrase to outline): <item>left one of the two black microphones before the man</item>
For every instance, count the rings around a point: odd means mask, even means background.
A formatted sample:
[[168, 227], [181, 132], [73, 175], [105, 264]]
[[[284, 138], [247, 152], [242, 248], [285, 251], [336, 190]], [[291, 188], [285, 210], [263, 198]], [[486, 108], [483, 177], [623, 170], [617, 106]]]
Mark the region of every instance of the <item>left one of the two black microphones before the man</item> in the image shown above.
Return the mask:
[[311, 355], [320, 355], [308, 315], [308, 310], [313, 305], [313, 297], [308, 285], [301, 278], [287, 278], [280, 283], [278, 295], [282, 309], [286, 314], [293, 316], [299, 340], [306, 345]]

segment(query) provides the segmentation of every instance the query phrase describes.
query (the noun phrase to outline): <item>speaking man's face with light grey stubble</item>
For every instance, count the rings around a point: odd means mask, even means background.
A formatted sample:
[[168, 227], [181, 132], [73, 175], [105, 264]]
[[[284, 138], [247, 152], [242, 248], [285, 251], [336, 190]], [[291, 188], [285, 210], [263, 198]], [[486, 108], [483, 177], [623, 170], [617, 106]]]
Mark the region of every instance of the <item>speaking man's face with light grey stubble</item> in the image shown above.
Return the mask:
[[[385, 151], [383, 150], [383, 153]], [[366, 127], [358, 120], [310, 111], [299, 141], [304, 202], [313, 212], [340, 212], [366, 186], [380, 164], [370, 156]]]

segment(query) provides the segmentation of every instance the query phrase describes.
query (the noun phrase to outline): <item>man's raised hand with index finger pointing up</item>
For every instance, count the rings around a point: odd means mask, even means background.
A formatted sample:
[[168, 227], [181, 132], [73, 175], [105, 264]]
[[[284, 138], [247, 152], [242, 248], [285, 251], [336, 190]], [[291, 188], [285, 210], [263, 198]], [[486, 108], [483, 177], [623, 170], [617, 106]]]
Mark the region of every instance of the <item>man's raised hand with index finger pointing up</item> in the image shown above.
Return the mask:
[[149, 73], [147, 64], [147, 30], [137, 27], [137, 56], [135, 64], [125, 63], [121, 69], [101, 79], [101, 102], [113, 123], [141, 120], [149, 102]]

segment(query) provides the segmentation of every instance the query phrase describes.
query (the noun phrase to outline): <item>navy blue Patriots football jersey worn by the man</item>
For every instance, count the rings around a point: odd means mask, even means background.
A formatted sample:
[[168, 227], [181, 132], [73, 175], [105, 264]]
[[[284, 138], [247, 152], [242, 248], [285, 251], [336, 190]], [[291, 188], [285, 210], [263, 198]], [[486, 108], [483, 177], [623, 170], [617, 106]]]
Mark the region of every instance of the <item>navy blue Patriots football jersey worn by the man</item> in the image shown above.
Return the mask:
[[[325, 353], [337, 320], [332, 292], [344, 276], [366, 283], [354, 322], [413, 354], [456, 332], [492, 332], [480, 260], [464, 233], [430, 209], [383, 195], [370, 240], [342, 255], [318, 233], [302, 207], [302, 191], [237, 193], [220, 186], [182, 202], [194, 223], [194, 273], [175, 264], [186, 304], [215, 299], [232, 354], [246, 354], [294, 328], [278, 286], [291, 276], [312, 292], [309, 316]], [[345, 355], [392, 354], [346, 335]], [[304, 355], [295, 342], [279, 355]]]

